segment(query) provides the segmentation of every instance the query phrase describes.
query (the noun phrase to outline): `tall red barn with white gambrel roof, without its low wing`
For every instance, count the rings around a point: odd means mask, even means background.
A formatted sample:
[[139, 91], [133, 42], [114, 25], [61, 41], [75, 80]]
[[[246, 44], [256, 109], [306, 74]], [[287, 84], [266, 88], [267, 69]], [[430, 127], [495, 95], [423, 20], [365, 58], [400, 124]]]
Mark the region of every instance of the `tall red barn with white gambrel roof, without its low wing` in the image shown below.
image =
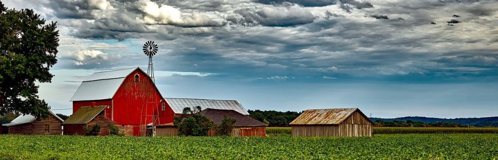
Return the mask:
[[82, 107], [106, 106], [105, 116], [124, 127], [127, 136], [145, 136], [146, 124], [153, 120], [155, 124], [173, 122], [173, 111], [162, 107], [164, 99], [139, 67], [94, 73], [71, 101], [73, 114]]

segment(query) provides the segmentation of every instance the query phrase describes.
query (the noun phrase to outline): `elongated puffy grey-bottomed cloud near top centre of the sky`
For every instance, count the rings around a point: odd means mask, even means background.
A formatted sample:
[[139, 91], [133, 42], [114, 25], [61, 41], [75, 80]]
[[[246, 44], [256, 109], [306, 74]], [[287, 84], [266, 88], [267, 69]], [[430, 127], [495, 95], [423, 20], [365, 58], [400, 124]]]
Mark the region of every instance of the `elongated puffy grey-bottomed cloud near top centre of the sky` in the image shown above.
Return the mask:
[[311, 12], [299, 8], [261, 8], [255, 9], [238, 9], [226, 18], [229, 23], [241, 24], [244, 26], [293, 26], [299, 24], [308, 24], [316, 18]]

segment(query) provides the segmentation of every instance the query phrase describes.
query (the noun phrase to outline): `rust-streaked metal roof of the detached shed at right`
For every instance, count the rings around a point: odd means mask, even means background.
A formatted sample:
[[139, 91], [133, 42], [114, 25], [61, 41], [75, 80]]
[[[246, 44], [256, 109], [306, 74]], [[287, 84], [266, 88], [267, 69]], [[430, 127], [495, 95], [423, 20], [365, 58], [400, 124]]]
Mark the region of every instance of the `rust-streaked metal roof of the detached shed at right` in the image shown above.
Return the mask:
[[357, 110], [358, 108], [306, 110], [289, 125], [337, 125]]

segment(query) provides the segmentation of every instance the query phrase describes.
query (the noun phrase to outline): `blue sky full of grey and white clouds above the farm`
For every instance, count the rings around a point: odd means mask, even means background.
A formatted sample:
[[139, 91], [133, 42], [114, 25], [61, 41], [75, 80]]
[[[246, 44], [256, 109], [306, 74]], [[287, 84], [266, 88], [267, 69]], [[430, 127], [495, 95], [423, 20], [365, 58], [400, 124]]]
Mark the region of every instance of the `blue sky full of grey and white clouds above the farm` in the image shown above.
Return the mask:
[[[498, 116], [497, 0], [1, 0], [57, 21], [52, 83], [71, 108], [94, 72], [139, 66], [169, 98], [367, 116]], [[54, 110], [71, 114], [71, 110]]]

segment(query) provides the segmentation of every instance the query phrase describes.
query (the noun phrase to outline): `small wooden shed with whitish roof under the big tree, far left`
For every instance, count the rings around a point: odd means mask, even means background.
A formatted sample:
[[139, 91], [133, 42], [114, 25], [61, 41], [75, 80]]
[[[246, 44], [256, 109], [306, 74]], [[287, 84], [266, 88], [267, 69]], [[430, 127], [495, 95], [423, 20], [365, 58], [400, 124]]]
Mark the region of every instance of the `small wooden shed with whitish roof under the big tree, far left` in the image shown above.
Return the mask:
[[36, 119], [31, 115], [21, 115], [10, 123], [3, 124], [2, 127], [7, 127], [8, 134], [24, 134], [24, 135], [61, 135], [64, 122], [59, 116], [52, 111], [45, 119]]

